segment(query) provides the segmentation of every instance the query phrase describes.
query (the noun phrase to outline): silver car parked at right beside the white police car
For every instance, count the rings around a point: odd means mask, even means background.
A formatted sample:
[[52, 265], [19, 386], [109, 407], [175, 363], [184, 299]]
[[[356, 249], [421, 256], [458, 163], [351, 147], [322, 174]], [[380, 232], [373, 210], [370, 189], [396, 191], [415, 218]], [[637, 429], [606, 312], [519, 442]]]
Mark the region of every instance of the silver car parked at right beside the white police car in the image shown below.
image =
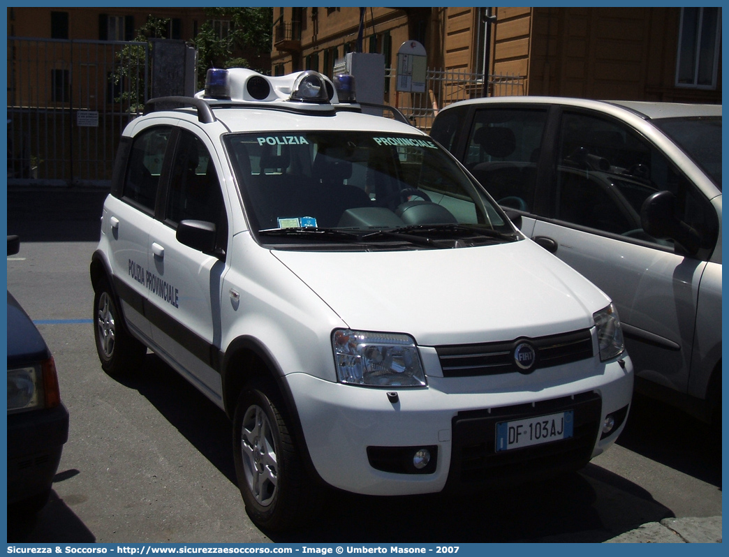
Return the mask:
[[612, 297], [636, 391], [720, 424], [722, 107], [499, 97], [431, 135], [523, 233]]

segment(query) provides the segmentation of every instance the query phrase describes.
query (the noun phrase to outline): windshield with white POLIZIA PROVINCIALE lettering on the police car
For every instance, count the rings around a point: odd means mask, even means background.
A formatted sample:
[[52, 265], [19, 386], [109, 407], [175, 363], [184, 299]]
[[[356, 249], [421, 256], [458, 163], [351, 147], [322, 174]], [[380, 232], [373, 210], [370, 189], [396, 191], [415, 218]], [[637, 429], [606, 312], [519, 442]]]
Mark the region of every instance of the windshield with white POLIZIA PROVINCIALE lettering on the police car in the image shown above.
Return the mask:
[[265, 244], [518, 239], [483, 188], [427, 136], [292, 131], [231, 133], [224, 142]]

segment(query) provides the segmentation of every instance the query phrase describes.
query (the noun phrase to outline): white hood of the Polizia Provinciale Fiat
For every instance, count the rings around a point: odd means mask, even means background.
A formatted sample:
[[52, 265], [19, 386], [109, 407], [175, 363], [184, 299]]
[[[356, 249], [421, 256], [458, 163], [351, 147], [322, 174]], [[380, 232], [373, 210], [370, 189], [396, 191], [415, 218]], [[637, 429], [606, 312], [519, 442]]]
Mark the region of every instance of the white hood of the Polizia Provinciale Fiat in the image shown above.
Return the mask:
[[536, 338], [593, 326], [609, 298], [530, 240], [399, 252], [273, 252], [356, 330], [422, 346]]

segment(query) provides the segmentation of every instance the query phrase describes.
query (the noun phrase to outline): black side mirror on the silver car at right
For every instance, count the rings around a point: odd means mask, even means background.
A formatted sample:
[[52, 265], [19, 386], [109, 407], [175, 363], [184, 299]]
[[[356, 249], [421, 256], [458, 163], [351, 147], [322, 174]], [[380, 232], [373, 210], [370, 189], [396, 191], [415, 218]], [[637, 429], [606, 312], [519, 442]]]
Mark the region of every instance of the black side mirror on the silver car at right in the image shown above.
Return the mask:
[[687, 223], [676, 217], [676, 195], [663, 190], [647, 198], [640, 210], [643, 230], [653, 238], [671, 238], [688, 255], [695, 255], [701, 247], [701, 236]]

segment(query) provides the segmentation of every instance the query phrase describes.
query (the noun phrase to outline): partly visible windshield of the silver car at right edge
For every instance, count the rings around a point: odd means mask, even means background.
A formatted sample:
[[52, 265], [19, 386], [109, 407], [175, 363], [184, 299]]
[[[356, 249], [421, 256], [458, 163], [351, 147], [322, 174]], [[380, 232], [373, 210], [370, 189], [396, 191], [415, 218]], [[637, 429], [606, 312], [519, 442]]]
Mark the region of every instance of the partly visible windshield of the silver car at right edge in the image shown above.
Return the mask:
[[722, 189], [722, 118], [664, 118], [653, 123]]

